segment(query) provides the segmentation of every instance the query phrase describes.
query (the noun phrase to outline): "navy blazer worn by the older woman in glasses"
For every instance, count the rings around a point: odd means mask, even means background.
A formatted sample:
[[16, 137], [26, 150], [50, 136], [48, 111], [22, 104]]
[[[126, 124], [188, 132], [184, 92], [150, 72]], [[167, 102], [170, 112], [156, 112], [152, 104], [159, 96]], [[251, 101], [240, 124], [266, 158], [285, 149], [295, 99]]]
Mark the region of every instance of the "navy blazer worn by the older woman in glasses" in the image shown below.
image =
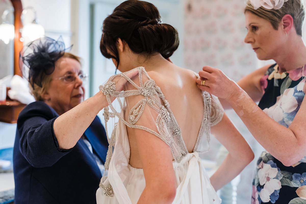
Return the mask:
[[[57, 117], [42, 101], [29, 104], [18, 117], [13, 151], [15, 204], [96, 203], [100, 169], [82, 139], [69, 150], [59, 149], [53, 131]], [[108, 142], [98, 116], [84, 135], [104, 164]]]

